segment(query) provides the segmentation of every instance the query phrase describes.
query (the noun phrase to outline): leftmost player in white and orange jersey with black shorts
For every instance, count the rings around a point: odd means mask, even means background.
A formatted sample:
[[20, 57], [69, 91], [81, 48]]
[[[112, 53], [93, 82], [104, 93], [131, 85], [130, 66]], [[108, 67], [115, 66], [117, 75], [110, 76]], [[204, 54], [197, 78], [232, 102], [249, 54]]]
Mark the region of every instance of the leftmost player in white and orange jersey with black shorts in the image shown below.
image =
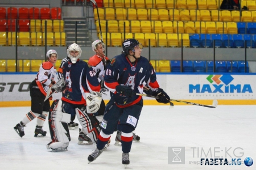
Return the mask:
[[54, 67], [57, 61], [57, 52], [53, 49], [48, 50], [46, 57], [48, 61], [43, 62], [39, 68], [35, 80], [30, 84], [31, 96], [31, 111], [26, 114], [22, 121], [14, 127], [14, 130], [22, 138], [24, 133], [24, 126], [37, 117], [35, 137], [46, 136], [46, 131], [43, 130], [43, 124], [49, 112], [49, 99], [46, 98], [46, 92], [50, 86], [55, 84], [54, 76], [56, 69]]

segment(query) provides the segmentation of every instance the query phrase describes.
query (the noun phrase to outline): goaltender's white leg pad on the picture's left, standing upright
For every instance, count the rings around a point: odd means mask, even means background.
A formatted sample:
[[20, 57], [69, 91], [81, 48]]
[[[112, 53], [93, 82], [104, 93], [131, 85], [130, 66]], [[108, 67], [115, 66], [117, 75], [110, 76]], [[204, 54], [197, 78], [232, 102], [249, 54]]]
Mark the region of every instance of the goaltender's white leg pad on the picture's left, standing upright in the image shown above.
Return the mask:
[[48, 143], [47, 149], [52, 151], [66, 150], [71, 141], [68, 122], [70, 122], [71, 114], [63, 113], [61, 110], [62, 101], [59, 100], [54, 104], [54, 108], [49, 114], [49, 129], [51, 131], [52, 142]]

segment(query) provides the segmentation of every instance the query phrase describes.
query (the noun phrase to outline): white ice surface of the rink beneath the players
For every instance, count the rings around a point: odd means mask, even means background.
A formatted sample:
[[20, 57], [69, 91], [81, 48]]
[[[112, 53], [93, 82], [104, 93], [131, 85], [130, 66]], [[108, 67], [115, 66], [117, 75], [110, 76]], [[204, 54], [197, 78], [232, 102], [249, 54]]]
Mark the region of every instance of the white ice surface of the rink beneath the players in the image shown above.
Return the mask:
[[[70, 130], [68, 151], [52, 152], [46, 149], [51, 141], [48, 122], [44, 124], [46, 137], [34, 137], [36, 120], [24, 128], [23, 138], [13, 129], [30, 107], [0, 108], [0, 111], [1, 169], [124, 169], [121, 147], [114, 146], [115, 133], [108, 150], [88, 164], [87, 157], [94, 147], [77, 145], [79, 129]], [[255, 111], [255, 105], [218, 105], [215, 109], [195, 105], [177, 105], [171, 109], [167, 105], [146, 105], [135, 130], [141, 142], [133, 142], [130, 165], [126, 169], [255, 169]], [[169, 147], [185, 147], [185, 164], [168, 164]], [[201, 155], [202, 150], [208, 155]], [[195, 163], [201, 158], [230, 161], [246, 157], [254, 159], [251, 167], [243, 163]]]

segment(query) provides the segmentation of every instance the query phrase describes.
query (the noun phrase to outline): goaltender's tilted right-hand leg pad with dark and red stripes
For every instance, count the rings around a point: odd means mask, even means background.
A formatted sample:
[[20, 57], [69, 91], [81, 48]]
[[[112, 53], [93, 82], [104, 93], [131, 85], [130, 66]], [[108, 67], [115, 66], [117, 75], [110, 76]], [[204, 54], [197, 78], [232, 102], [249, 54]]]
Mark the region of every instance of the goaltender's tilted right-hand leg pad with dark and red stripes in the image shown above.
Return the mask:
[[97, 118], [79, 108], [76, 108], [76, 116], [82, 126], [82, 130], [92, 139], [92, 142], [96, 143], [101, 131]]

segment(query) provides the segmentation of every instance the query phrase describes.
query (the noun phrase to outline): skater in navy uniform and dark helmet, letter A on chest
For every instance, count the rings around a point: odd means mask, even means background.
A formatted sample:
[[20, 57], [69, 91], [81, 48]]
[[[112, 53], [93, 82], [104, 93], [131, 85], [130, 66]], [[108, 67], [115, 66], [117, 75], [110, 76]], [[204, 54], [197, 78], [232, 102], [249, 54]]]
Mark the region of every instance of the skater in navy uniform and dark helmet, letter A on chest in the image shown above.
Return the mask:
[[146, 82], [152, 93], [158, 96], [159, 103], [169, 103], [170, 97], [159, 88], [156, 74], [151, 63], [141, 56], [143, 46], [135, 39], [127, 39], [122, 44], [123, 53], [115, 56], [106, 68], [104, 83], [110, 90], [111, 99], [101, 123], [101, 133], [97, 148], [88, 156], [89, 163], [102, 152], [117, 124], [121, 129], [122, 164], [130, 164], [129, 152], [133, 142], [133, 130], [138, 125], [143, 107], [142, 96], [134, 95], [143, 92]]

